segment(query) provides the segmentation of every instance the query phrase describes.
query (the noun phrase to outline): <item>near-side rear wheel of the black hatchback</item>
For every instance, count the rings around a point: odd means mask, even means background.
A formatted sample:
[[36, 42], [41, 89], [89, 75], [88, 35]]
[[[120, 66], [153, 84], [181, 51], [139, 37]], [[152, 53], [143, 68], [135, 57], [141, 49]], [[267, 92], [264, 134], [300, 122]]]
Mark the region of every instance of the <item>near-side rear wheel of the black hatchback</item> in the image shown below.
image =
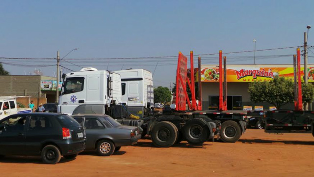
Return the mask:
[[47, 145], [41, 151], [41, 159], [48, 164], [56, 164], [61, 159], [60, 150], [54, 145]]

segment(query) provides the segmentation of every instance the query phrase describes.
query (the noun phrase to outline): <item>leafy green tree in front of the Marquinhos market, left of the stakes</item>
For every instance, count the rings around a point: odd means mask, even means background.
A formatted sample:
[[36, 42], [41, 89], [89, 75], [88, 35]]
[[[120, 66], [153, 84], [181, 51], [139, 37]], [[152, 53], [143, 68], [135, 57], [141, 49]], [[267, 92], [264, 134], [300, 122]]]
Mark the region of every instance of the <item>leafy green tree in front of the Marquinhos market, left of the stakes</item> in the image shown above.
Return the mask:
[[277, 109], [293, 102], [293, 82], [284, 77], [275, 77], [269, 82], [252, 82], [249, 84], [251, 101], [268, 102]]

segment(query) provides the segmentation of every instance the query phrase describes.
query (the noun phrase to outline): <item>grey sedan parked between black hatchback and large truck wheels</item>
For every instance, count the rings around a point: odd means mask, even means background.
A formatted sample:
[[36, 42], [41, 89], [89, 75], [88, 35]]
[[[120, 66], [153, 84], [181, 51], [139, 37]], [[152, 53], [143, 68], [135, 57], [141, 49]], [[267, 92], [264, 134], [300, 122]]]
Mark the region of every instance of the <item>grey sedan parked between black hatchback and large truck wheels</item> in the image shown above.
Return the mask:
[[138, 127], [121, 125], [107, 115], [72, 116], [84, 127], [86, 132], [86, 149], [97, 150], [101, 156], [109, 156], [122, 146], [130, 146], [141, 139]]

